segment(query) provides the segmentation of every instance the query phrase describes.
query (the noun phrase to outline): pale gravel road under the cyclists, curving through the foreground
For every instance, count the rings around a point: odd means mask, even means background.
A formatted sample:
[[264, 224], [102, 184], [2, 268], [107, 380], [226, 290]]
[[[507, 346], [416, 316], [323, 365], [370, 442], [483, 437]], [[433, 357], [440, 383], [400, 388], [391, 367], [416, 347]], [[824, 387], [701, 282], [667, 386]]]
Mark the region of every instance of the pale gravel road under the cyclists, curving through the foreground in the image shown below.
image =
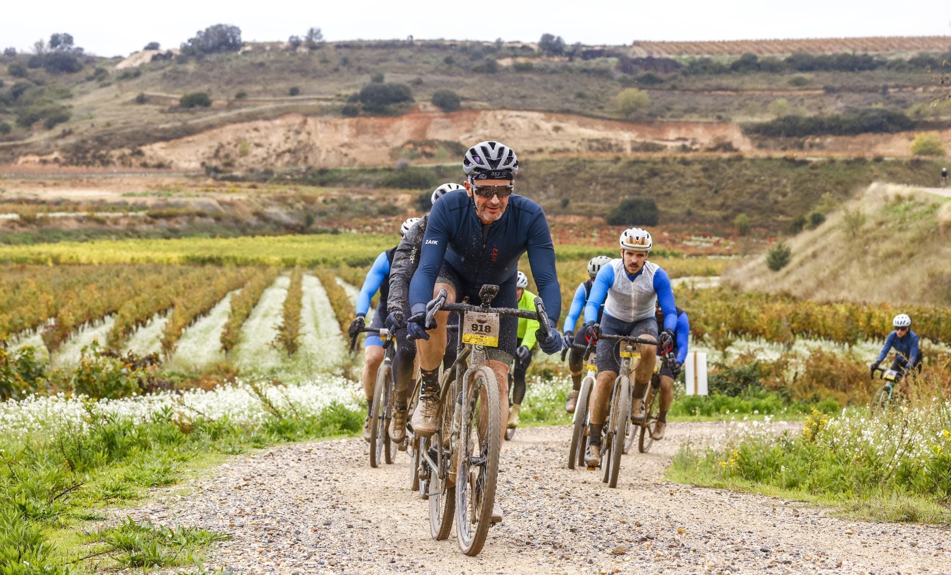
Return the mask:
[[407, 489], [406, 454], [370, 469], [359, 438], [234, 459], [188, 494], [166, 489], [131, 515], [230, 534], [206, 566], [238, 573], [951, 573], [948, 527], [845, 521], [665, 481], [688, 434], [724, 429], [672, 424], [650, 453], [624, 456], [618, 489], [600, 471], [565, 467], [569, 428], [519, 430], [502, 450], [505, 521], [476, 558], [459, 552], [455, 530], [430, 538], [426, 502]]

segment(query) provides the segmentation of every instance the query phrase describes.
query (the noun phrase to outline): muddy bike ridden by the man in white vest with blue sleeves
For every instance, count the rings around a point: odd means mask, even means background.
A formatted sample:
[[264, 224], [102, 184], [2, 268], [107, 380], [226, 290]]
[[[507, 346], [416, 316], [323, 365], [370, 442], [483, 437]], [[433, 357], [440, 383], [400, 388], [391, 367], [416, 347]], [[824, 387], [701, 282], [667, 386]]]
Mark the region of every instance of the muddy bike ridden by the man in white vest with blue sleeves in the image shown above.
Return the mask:
[[640, 346], [656, 346], [657, 342], [644, 337], [608, 334], [601, 334], [598, 340], [616, 341], [617, 345], [621, 346], [621, 368], [611, 389], [608, 421], [601, 437], [601, 468], [604, 470], [601, 481], [607, 483], [610, 488], [616, 488], [617, 476], [621, 470], [621, 454], [624, 452], [628, 432], [631, 431], [631, 374], [641, 364]]

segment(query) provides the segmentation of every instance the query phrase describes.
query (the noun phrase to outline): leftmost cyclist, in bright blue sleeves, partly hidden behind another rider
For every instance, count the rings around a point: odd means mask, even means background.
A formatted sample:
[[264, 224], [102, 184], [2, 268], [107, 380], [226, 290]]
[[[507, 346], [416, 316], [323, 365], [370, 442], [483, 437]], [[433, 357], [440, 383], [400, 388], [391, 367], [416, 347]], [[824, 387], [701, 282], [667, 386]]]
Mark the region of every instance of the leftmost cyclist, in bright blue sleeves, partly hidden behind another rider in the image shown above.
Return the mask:
[[[399, 226], [399, 235], [402, 236], [410, 229], [418, 218], [410, 218], [403, 221]], [[390, 267], [393, 265], [393, 257], [397, 248], [382, 252], [374, 260], [373, 266], [367, 272], [363, 279], [363, 286], [357, 296], [357, 317], [350, 323], [347, 330], [348, 335], [353, 337], [358, 335], [359, 331], [365, 326], [366, 314], [370, 311], [370, 300], [379, 292], [379, 303], [377, 311], [370, 322], [370, 327], [379, 329], [383, 327], [383, 319], [386, 317], [386, 299], [390, 293]], [[398, 346], [399, 347], [399, 346]], [[377, 382], [377, 370], [379, 364], [383, 361], [383, 342], [379, 335], [368, 334], [363, 351], [363, 394], [366, 396], [366, 420], [363, 422], [363, 439], [370, 441], [370, 410], [373, 409], [373, 392]]]

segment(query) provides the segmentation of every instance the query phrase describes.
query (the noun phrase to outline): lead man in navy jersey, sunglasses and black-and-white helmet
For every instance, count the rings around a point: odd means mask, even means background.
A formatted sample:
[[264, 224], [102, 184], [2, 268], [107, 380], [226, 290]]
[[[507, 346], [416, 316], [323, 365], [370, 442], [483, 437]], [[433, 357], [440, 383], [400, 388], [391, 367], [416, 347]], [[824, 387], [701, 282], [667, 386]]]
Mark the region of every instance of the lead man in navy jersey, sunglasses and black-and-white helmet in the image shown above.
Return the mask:
[[[514, 151], [498, 142], [481, 142], [466, 151], [462, 169], [465, 192], [455, 191], [433, 205], [419, 256], [419, 267], [410, 282], [413, 316], [407, 330], [417, 339], [421, 391], [413, 413], [413, 429], [421, 435], [436, 431], [439, 415], [437, 370], [446, 347], [446, 313], [438, 313], [435, 326], [423, 326], [426, 304], [446, 290], [447, 301], [469, 297], [478, 302], [484, 284], [499, 286], [494, 307], [515, 307], [518, 259], [528, 252], [538, 293], [545, 302], [549, 324], [561, 313], [561, 294], [554, 266], [554, 246], [548, 220], [534, 201], [513, 195], [518, 160]], [[518, 321], [500, 318], [498, 347], [487, 350], [489, 367], [499, 387], [503, 421], [509, 417], [509, 364], [517, 347]], [[537, 336], [537, 335], [536, 335]], [[561, 349], [561, 336], [539, 340], [546, 354]], [[500, 438], [501, 439], [501, 438]], [[501, 508], [493, 521], [501, 521]]]

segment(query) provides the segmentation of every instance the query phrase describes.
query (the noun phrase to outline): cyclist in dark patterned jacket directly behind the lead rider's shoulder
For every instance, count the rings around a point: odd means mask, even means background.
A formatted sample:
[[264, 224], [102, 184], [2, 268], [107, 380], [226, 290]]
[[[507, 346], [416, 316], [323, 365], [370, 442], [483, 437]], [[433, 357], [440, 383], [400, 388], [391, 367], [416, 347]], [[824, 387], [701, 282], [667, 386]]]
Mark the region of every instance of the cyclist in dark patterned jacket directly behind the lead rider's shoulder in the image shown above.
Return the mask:
[[[433, 191], [430, 201], [435, 204], [439, 198], [449, 192], [461, 189], [463, 187], [457, 183], [443, 183]], [[393, 256], [393, 265], [390, 268], [390, 294], [386, 301], [388, 315], [385, 321], [386, 328], [390, 331], [399, 333], [399, 330], [406, 327], [405, 320], [409, 317], [410, 311], [410, 280], [419, 265], [419, 249], [422, 247], [422, 238], [426, 234], [428, 220], [429, 214], [425, 214], [403, 234], [403, 239], [399, 240], [397, 252]], [[450, 344], [447, 349], [452, 347]], [[393, 362], [397, 389], [393, 399], [390, 437], [397, 443], [406, 437], [407, 393], [413, 382], [416, 353], [416, 342], [407, 341], [405, 345], [398, 345], [397, 356]]]

